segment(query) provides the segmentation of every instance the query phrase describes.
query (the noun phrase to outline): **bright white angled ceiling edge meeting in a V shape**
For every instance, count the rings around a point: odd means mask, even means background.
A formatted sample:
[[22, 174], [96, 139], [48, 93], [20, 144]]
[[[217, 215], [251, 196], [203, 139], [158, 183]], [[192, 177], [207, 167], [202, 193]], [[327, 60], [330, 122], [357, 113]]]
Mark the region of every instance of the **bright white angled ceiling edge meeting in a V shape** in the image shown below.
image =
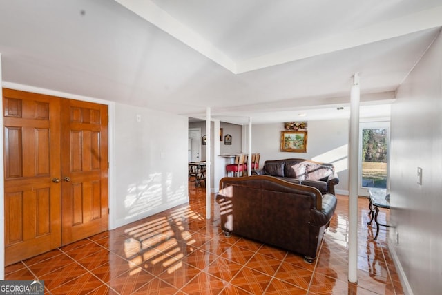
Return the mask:
[[442, 6], [247, 60], [233, 60], [149, 0], [115, 0], [231, 73], [240, 74], [442, 26]]

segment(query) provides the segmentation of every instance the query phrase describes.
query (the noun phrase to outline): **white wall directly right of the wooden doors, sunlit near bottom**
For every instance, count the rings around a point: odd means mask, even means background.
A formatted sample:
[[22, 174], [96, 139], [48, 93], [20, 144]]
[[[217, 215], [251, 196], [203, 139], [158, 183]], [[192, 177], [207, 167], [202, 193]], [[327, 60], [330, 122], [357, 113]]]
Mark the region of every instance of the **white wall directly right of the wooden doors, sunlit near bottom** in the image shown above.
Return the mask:
[[187, 117], [116, 104], [112, 228], [189, 200], [187, 130]]

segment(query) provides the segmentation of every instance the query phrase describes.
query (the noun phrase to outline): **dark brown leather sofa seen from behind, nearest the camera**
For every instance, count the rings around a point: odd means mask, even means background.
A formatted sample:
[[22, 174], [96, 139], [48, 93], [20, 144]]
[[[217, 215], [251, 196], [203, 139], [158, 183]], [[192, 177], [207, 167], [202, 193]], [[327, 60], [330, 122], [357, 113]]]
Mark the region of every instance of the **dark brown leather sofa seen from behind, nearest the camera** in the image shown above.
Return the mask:
[[222, 178], [215, 197], [224, 235], [237, 234], [316, 258], [336, 196], [267, 175]]

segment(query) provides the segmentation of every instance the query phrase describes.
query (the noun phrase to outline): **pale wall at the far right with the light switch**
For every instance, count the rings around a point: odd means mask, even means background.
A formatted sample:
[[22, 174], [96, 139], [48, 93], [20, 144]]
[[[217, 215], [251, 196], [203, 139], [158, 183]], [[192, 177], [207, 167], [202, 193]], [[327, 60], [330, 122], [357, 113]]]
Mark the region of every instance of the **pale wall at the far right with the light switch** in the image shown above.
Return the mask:
[[[442, 287], [442, 36], [398, 88], [392, 105], [390, 250], [405, 294]], [[417, 168], [423, 169], [422, 185]], [[399, 243], [396, 244], [396, 233]]]

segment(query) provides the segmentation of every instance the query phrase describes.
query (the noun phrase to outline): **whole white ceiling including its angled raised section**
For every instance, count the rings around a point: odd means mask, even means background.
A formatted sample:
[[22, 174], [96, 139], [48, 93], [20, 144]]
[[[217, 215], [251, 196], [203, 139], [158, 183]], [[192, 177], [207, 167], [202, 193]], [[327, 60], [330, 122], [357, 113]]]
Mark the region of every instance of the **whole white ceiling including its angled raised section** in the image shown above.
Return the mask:
[[349, 117], [359, 73], [387, 117], [441, 26], [442, 0], [15, 0], [0, 53], [10, 85], [238, 124]]

